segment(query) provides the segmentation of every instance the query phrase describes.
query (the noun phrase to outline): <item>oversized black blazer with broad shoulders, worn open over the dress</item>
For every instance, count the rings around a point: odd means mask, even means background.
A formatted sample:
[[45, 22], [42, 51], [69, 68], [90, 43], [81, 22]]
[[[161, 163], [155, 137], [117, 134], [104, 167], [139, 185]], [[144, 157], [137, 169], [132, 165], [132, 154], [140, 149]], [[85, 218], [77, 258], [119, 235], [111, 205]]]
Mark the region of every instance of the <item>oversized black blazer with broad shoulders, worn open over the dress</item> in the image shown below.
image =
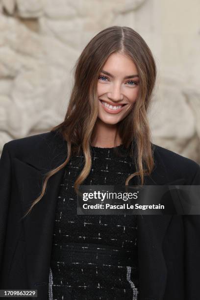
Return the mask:
[[[156, 145], [155, 168], [146, 184], [200, 185], [200, 166]], [[37, 289], [48, 300], [56, 199], [64, 169], [42, 177], [67, 157], [58, 132], [6, 143], [0, 158], [0, 289]], [[137, 216], [139, 300], [200, 299], [200, 216]], [[16, 299], [16, 298], [15, 298]], [[33, 298], [35, 299], [35, 298]]]

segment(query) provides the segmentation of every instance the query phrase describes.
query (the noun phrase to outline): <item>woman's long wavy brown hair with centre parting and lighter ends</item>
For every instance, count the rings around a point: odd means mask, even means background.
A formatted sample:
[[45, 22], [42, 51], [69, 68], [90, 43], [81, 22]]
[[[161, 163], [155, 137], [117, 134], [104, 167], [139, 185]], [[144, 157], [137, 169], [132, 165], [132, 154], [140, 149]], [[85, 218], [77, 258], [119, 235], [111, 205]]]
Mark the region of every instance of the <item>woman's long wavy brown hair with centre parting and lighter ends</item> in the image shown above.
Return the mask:
[[[57, 168], [45, 174], [40, 196], [33, 201], [27, 211], [45, 194], [49, 178], [64, 168], [74, 153], [84, 154], [84, 167], [75, 180], [75, 191], [89, 175], [91, 159], [91, 141], [98, 117], [98, 76], [109, 55], [115, 52], [124, 53], [135, 63], [139, 75], [139, 96], [131, 112], [119, 122], [118, 130], [125, 148], [135, 141], [136, 147], [129, 147], [129, 155], [134, 158], [136, 172], [126, 178], [138, 176], [138, 184], [144, 184], [144, 175], [152, 172], [153, 149], [150, 142], [150, 128], [147, 110], [156, 78], [156, 66], [152, 53], [143, 38], [132, 28], [112, 26], [100, 31], [87, 44], [75, 64], [75, 82], [72, 89], [64, 121], [50, 131], [58, 130], [67, 142], [67, 158]], [[133, 153], [134, 152], [134, 153]], [[26, 215], [25, 214], [25, 215]]]

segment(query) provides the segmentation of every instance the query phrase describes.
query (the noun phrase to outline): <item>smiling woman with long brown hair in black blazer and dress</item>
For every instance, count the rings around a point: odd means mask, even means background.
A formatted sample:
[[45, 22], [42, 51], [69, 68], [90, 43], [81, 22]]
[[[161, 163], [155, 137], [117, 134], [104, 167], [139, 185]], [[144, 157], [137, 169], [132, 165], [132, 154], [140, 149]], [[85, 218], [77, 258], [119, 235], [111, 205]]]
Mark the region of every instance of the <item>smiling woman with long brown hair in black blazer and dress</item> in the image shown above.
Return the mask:
[[150, 142], [155, 77], [142, 37], [106, 28], [76, 63], [65, 120], [4, 145], [1, 289], [40, 300], [199, 299], [199, 216], [76, 214], [82, 184], [200, 184], [198, 164]]

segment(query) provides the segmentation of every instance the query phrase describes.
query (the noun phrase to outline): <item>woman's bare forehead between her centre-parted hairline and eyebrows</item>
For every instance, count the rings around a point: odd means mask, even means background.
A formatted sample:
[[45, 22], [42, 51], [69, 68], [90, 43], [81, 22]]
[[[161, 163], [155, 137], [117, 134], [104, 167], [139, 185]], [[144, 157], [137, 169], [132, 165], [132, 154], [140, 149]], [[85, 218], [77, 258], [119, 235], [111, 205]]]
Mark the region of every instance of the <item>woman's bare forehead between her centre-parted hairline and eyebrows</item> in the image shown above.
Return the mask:
[[133, 60], [121, 53], [112, 53], [106, 60], [102, 69], [113, 75], [120, 75], [122, 73], [123, 75], [129, 75], [137, 73], [137, 67]]

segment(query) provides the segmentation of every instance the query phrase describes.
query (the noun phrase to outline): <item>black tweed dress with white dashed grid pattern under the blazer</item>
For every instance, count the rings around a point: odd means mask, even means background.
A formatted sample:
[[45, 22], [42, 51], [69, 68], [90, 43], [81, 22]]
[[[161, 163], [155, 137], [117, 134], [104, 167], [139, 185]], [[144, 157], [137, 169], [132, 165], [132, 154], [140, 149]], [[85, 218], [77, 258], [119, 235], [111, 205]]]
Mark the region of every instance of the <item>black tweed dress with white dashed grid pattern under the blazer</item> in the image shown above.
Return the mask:
[[[127, 150], [91, 147], [83, 185], [125, 185], [135, 171]], [[83, 154], [65, 168], [57, 199], [50, 265], [50, 300], [137, 300], [137, 224], [134, 215], [78, 215], [74, 183]], [[133, 179], [132, 179], [133, 180]], [[134, 184], [129, 181], [129, 184]]]

